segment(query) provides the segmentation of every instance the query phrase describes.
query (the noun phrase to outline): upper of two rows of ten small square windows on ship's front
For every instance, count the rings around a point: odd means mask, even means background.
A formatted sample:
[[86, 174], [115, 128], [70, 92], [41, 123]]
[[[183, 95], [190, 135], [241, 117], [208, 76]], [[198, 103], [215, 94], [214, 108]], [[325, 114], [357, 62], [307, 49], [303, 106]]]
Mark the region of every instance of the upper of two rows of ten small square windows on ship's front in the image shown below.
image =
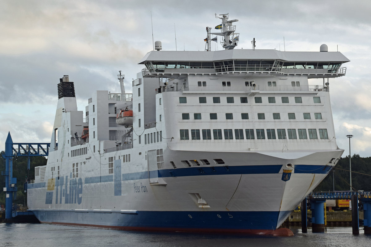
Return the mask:
[[[302, 97], [294, 97], [295, 103], [303, 103]], [[289, 103], [289, 97], [281, 97], [282, 103]], [[198, 97], [199, 103], [206, 103], [206, 97]], [[247, 97], [240, 97], [241, 103], [247, 103]], [[179, 103], [187, 103], [187, 97], [179, 97]], [[220, 97], [213, 97], [213, 103], [220, 103]], [[227, 103], [234, 103], [234, 97], [227, 97]], [[255, 97], [255, 103], [263, 103], [262, 97]], [[276, 103], [276, 97], [268, 97], [268, 103]], [[313, 97], [313, 103], [321, 103], [321, 98]]]

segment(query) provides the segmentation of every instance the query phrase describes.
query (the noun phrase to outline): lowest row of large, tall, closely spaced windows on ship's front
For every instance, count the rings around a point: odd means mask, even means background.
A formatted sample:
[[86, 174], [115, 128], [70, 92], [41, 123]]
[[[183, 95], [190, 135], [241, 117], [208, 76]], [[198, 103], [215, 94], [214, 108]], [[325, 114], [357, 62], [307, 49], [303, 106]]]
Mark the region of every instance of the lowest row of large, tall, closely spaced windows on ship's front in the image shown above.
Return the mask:
[[[224, 129], [223, 131], [221, 129], [213, 129], [212, 136], [214, 140], [222, 140], [223, 132], [225, 140], [233, 140], [233, 129]], [[286, 139], [286, 137], [288, 137], [289, 139], [298, 139], [298, 137], [299, 139], [308, 139], [308, 137], [309, 139], [318, 139], [317, 130], [315, 128], [309, 128], [308, 135], [305, 128], [299, 128], [297, 132], [298, 134], [296, 134], [295, 128], [288, 128], [287, 136], [286, 129], [284, 128], [278, 128], [277, 130], [275, 130], [274, 128], [269, 128], [266, 129], [266, 133], [267, 136], [265, 136], [265, 130], [263, 128], [256, 129], [256, 139]], [[320, 139], [328, 139], [326, 128], [318, 129], [318, 133]], [[211, 129], [203, 129], [201, 131], [199, 129], [192, 129], [191, 140], [201, 140], [201, 134], [203, 140], [211, 140]], [[246, 138], [247, 140], [255, 139], [254, 129], [245, 129], [245, 131], [243, 131], [243, 129], [235, 129], [234, 137], [236, 140], [243, 140], [244, 138]], [[189, 130], [180, 130], [180, 140], [189, 140]]]

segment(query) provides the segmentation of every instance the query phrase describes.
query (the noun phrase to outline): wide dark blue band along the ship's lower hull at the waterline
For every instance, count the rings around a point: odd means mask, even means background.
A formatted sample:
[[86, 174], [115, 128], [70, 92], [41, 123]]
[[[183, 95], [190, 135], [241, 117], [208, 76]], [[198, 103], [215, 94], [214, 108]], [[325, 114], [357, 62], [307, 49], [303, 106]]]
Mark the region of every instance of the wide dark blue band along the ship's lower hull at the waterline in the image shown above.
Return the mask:
[[132, 228], [275, 230], [279, 218], [279, 212], [272, 211], [138, 211], [137, 214], [121, 214], [35, 210], [33, 213], [44, 223]]

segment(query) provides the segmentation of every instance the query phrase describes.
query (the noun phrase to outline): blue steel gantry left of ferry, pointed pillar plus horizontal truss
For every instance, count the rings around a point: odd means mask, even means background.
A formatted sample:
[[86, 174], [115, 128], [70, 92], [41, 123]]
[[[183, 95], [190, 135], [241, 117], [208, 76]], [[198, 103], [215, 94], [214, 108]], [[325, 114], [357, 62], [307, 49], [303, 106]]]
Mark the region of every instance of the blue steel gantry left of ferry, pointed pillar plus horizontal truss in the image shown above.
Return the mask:
[[[5, 171], [1, 171], [1, 175], [5, 176], [5, 187], [3, 191], [6, 193], [5, 198], [5, 219], [12, 218], [13, 212], [13, 193], [17, 192], [17, 178], [13, 177], [13, 157], [27, 156], [27, 171], [30, 170], [31, 156], [48, 156], [50, 143], [13, 143], [10, 132], [5, 141]], [[14, 210], [16, 216], [16, 211]]]

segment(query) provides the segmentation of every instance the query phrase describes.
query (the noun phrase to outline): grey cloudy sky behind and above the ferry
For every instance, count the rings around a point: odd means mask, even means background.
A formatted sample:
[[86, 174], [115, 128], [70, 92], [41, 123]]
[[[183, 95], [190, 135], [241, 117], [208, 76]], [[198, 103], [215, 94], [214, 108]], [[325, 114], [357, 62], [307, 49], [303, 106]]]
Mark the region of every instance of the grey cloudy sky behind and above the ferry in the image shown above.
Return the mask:
[[[227, 3], [227, 4], [226, 4]], [[341, 51], [347, 75], [330, 79], [338, 146], [371, 156], [371, 1], [14, 0], [0, 3], [0, 150], [13, 142], [50, 142], [59, 78], [75, 83], [79, 110], [95, 90], [119, 92], [116, 75], [131, 80], [154, 40], [164, 50], [204, 50], [214, 13], [238, 19], [239, 49]], [[175, 45], [174, 26], [177, 43]], [[283, 44], [285, 37], [285, 47]], [[213, 50], [221, 46], [213, 43]], [[309, 84], [322, 84], [312, 80]]]

